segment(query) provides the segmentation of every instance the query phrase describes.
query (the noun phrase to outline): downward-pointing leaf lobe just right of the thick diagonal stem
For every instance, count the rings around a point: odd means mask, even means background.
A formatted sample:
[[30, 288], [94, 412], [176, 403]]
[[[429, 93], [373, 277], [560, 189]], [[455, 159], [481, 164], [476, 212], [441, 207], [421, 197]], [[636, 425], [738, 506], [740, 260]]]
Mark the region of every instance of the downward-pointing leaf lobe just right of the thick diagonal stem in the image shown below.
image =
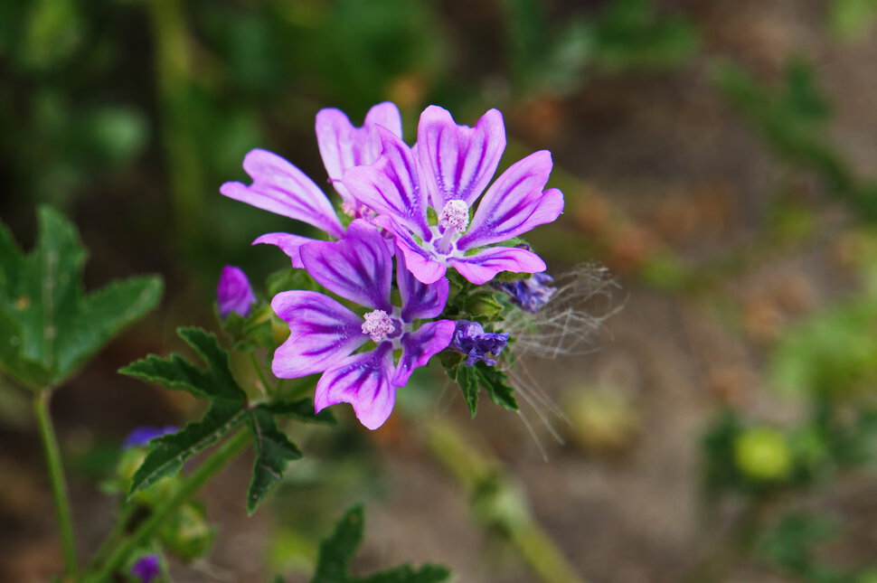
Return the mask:
[[283, 479], [288, 463], [301, 459], [301, 452], [278, 428], [277, 420], [268, 411], [253, 409], [248, 422], [256, 448], [250, 489], [247, 491], [247, 513], [252, 515], [271, 489]]

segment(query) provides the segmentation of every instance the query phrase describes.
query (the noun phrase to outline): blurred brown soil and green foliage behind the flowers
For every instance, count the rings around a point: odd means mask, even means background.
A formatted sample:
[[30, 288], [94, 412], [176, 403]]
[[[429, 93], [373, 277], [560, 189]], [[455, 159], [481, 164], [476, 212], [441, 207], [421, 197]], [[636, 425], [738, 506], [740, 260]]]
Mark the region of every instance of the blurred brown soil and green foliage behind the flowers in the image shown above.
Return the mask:
[[[197, 414], [115, 371], [216, 329], [222, 265], [257, 287], [287, 265], [250, 241], [299, 226], [219, 185], [257, 146], [323, 184], [316, 112], [390, 99], [409, 142], [428, 104], [495, 107], [504, 165], [552, 150], [566, 212], [529, 239], [555, 275], [608, 268], [566, 279], [599, 329], [520, 354], [520, 416], [470, 420], [437, 370], [379, 431], [294, 435], [306, 458], [252, 519], [240, 460], [203, 496], [212, 555], [174, 580], [306, 580], [364, 501], [365, 572], [877, 581], [875, 21], [873, 0], [0, 1], [0, 217], [26, 248], [38, 204], [76, 221], [87, 287], [166, 281], [53, 402], [83, 546], [127, 432]], [[3, 581], [61, 569], [29, 418], [0, 385]]]

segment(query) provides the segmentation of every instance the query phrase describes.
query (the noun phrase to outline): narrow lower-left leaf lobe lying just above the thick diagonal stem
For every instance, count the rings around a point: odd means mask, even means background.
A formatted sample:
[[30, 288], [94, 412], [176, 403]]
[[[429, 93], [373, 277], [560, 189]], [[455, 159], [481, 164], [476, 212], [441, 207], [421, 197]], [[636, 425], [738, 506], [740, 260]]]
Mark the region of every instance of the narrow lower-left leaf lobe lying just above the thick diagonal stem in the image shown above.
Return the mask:
[[185, 460], [243, 423], [246, 415], [243, 403], [215, 400], [200, 420], [187, 423], [176, 433], [153, 439], [146, 459], [131, 480], [128, 495], [177, 472]]

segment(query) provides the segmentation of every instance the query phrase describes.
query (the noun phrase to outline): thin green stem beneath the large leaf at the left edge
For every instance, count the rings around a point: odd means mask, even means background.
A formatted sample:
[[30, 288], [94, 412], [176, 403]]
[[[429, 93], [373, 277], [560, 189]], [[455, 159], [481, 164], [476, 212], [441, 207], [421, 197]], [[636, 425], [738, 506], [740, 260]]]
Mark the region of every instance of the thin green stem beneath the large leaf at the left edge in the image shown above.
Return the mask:
[[51, 390], [41, 390], [33, 397], [33, 413], [42, 439], [42, 453], [45, 455], [49, 470], [49, 481], [52, 484], [52, 498], [55, 504], [55, 518], [61, 533], [61, 549], [64, 553], [64, 576], [75, 579], [76, 541], [73, 537], [73, 521], [70, 512], [70, 498], [67, 495], [67, 483], [64, 480], [64, 468], [61, 465], [61, 452], [58, 448], [58, 437], [52, 427], [49, 416], [49, 399]]

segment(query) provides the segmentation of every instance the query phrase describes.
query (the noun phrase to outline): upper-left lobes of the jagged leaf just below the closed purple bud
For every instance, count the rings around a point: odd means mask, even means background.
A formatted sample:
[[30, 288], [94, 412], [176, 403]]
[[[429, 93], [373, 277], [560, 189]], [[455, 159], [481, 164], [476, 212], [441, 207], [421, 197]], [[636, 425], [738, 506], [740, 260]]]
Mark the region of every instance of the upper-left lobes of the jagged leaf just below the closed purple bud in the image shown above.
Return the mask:
[[242, 406], [247, 400], [246, 393], [231, 375], [229, 355], [216, 336], [192, 327], [178, 328], [176, 332], [207, 363], [206, 371], [179, 354], [171, 354], [167, 359], [150, 354], [119, 369], [119, 372], [169, 389], [185, 390], [201, 399], [231, 400]]

